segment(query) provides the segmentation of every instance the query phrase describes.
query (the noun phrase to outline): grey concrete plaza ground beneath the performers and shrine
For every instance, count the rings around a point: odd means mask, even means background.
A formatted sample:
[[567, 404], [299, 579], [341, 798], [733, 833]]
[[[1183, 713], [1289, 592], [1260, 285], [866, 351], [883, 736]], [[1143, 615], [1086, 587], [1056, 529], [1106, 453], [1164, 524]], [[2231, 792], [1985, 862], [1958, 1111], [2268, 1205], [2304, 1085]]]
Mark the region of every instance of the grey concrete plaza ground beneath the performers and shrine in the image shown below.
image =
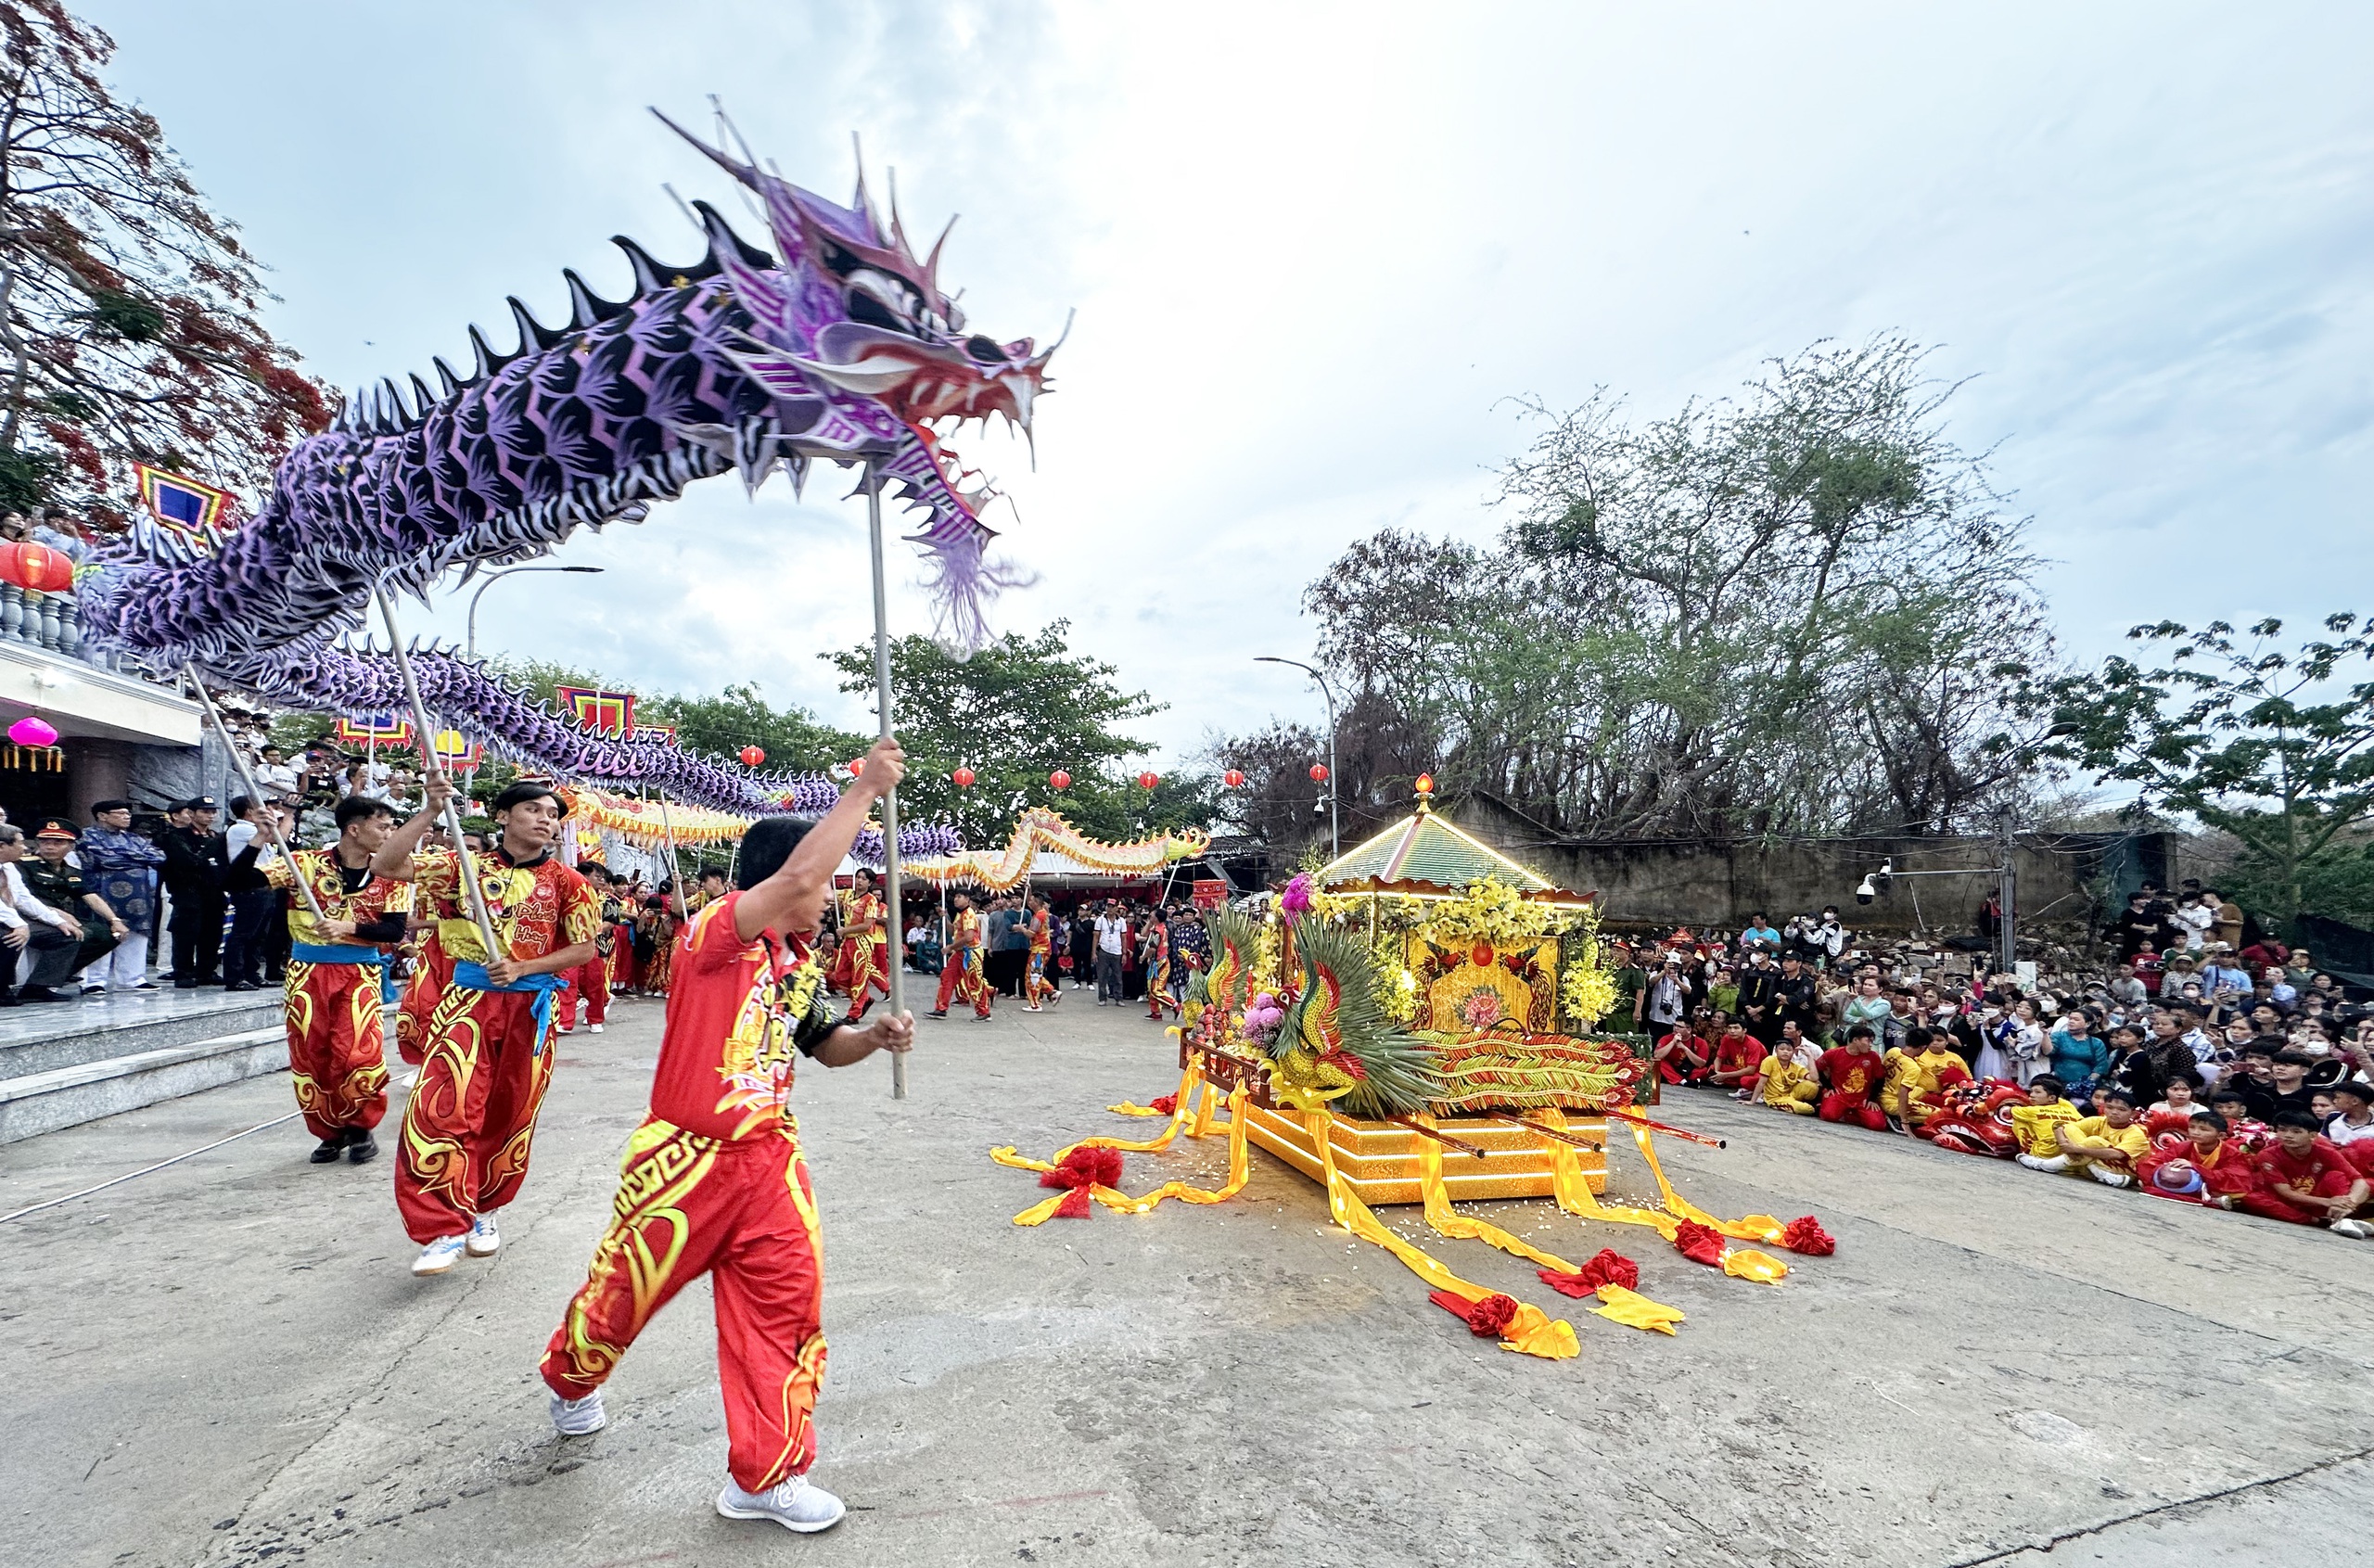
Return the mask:
[[[627, 1001], [560, 1041], [491, 1262], [415, 1281], [389, 1165], [311, 1167], [290, 1122], [0, 1224], [0, 1561], [204, 1563], [2338, 1563], [2374, 1502], [2374, 1243], [2348, 1243], [1683, 1094], [1664, 1141], [1716, 1212], [1837, 1236], [1778, 1288], [1655, 1234], [1488, 1205], [1640, 1260], [1688, 1312], [1619, 1328], [1481, 1243], [1432, 1248], [1567, 1317], [1583, 1355], [1472, 1338], [1320, 1191], [1256, 1153], [1218, 1207], [1018, 1231], [988, 1160], [1128, 1132], [1173, 1086], [1135, 1015], [1073, 994], [926, 1022], [800, 1079], [829, 1238], [817, 1480], [845, 1525], [715, 1516], [707, 1286], [558, 1440], [534, 1364], [603, 1226], [658, 1046]], [[254, 1079], [0, 1150], [0, 1212], [287, 1110]], [[1144, 1124], [1135, 1124], [1144, 1127]], [[1215, 1181], [1223, 1146], [1125, 1186]], [[1619, 1193], [1645, 1179], [1617, 1158]], [[1413, 1229], [1408, 1210], [1386, 1217]]]

